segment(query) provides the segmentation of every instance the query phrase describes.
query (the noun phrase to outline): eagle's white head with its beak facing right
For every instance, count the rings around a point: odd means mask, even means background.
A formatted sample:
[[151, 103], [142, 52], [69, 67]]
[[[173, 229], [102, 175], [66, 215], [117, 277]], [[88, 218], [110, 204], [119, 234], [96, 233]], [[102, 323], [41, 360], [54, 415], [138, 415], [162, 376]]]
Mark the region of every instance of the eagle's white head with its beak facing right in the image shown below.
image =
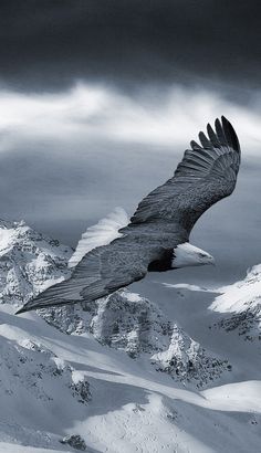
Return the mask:
[[185, 242], [174, 249], [173, 268], [187, 266], [201, 266], [203, 264], [215, 264], [215, 259], [209, 253], [195, 245]]

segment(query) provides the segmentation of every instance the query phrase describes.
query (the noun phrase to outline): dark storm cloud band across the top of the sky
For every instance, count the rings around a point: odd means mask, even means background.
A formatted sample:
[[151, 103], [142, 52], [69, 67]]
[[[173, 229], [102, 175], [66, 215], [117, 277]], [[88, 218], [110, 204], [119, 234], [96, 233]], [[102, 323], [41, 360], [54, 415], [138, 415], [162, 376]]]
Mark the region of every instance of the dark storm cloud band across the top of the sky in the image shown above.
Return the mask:
[[75, 78], [257, 86], [260, 10], [253, 0], [2, 1], [0, 80], [27, 89]]

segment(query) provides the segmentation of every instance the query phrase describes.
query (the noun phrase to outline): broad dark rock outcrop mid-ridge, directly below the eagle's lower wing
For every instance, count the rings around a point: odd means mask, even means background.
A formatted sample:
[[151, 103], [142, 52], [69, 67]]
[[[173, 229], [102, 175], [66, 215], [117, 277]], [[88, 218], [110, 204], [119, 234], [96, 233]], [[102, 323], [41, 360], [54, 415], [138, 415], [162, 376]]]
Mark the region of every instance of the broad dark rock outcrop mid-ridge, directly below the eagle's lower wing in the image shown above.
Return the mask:
[[132, 357], [166, 348], [171, 333], [157, 305], [127, 289], [100, 299], [90, 327], [98, 341]]

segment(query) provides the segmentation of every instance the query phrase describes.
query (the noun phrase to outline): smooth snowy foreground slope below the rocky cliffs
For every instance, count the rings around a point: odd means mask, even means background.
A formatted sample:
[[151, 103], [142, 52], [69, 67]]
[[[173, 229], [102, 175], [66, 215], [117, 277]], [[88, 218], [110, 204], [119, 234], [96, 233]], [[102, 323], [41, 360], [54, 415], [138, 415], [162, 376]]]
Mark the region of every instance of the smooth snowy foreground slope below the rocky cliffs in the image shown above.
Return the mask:
[[[72, 434], [80, 434], [91, 452], [259, 451], [260, 382], [216, 384], [202, 392], [188, 391], [154, 370], [143, 356], [133, 360], [124, 351], [101, 345], [91, 334], [65, 335], [36, 314], [18, 317], [12, 313], [9, 304], [0, 307], [0, 338], [7, 345], [6, 354], [14, 359], [14, 364], [7, 360], [11, 364], [8, 375], [2, 368], [3, 375], [11, 379], [12, 392], [1, 394], [4, 411], [0, 415], [0, 451], [10, 449], [10, 444], [12, 452], [15, 444], [38, 445], [41, 452], [45, 449], [73, 451], [60, 443]], [[35, 350], [30, 345], [36, 345]], [[30, 378], [38, 372], [40, 357], [40, 362], [46, 364], [36, 383], [43, 389], [43, 398], [28, 379], [25, 387], [23, 381], [19, 386], [19, 393], [14, 391], [15, 376], [12, 375], [17, 368], [13, 366], [21, 351], [30, 360], [34, 355], [36, 358], [19, 366], [20, 376], [21, 367]], [[59, 358], [59, 364], [66, 364], [64, 376], [49, 371], [50, 361], [53, 370], [54, 358]], [[69, 384], [72, 371], [66, 367], [80, 372], [82, 381], [87, 382], [87, 396], [90, 391], [92, 399], [87, 398], [85, 403], [72, 394]], [[36, 391], [38, 398], [32, 391]], [[23, 451], [27, 452], [25, 446]]]

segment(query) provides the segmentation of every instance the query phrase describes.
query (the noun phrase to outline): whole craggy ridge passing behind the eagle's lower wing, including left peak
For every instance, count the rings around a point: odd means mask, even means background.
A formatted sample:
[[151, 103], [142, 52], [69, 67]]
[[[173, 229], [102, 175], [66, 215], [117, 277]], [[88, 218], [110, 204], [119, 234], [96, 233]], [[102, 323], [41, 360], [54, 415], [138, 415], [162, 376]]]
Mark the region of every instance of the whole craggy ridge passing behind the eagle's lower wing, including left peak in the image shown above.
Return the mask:
[[[24, 303], [48, 286], [66, 278], [72, 249], [44, 238], [24, 222], [0, 223], [0, 271], [3, 303]], [[39, 310], [53, 326], [67, 334], [91, 331], [103, 345], [142, 352], [158, 370], [174, 379], [200, 387], [227, 371], [226, 359], [212, 357], [158, 305], [128, 291], [82, 306]]]

